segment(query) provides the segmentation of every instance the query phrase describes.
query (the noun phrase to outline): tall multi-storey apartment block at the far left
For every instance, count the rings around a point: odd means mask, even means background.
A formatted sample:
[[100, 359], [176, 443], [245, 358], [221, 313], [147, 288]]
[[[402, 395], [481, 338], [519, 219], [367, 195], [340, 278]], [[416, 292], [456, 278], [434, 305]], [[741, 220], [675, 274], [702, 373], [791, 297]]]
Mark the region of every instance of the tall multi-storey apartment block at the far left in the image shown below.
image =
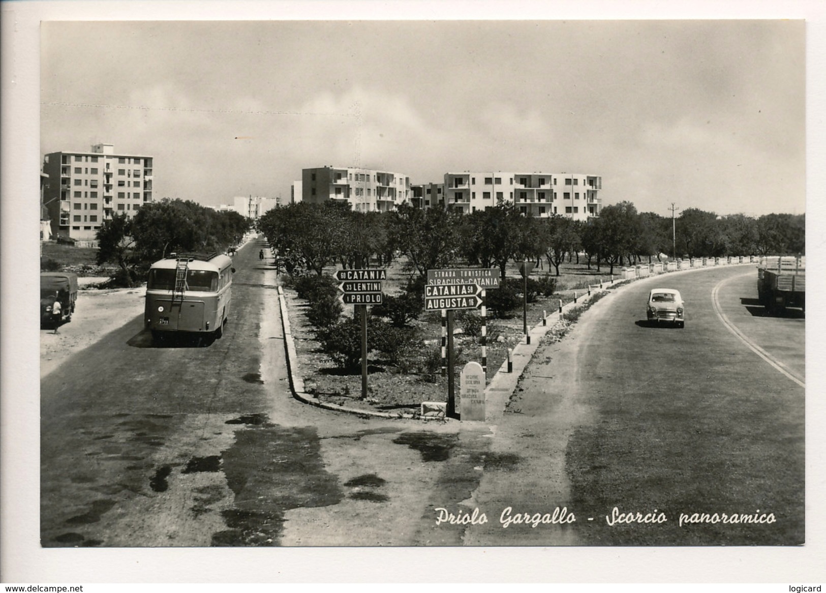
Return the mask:
[[114, 145], [97, 144], [90, 152], [45, 154], [43, 173], [49, 181], [43, 205], [52, 236], [90, 241], [113, 214], [135, 216], [152, 202], [153, 158], [116, 154]]

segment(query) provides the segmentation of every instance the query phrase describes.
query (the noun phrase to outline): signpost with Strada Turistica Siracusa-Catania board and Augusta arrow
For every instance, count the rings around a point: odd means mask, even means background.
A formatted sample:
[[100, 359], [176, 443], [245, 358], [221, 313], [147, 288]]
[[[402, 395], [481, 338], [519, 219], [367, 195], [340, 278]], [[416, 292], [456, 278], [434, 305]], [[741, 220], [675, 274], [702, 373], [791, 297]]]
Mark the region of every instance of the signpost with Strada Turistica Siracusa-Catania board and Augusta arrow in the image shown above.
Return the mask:
[[[478, 367], [478, 372], [474, 371], [474, 381], [478, 382], [482, 391], [482, 417], [478, 420], [485, 420], [484, 413], [484, 390], [487, 382], [487, 325], [485, 324], [485, 290], [487, 288], [498, 288], [501, 281], [501, 273], [497, 268], [457, 268], [447, 270], [428, 270], [427, 285], [425, 286], [425, 311], [442, 311], [442, 369], [444, 373], [445, 349], [447, 349], [447, 373], [448, 373], [448, 410], [447, 415], [456, 417], [456, 398], [454, 391], [453, 377], [453, 311], [457, 309], [477, 309], [482, 307], [482, 364], [472, 363]], [[447, 323], [445, 324], [445, 318]], [[445, 325], [447, 327], [445, 328]], [[445, 336], [447, 333], [447, 336]], [[445, 344], [447, 342], [447, 344]], [[470, 363], [468, 363], [469, 366]], [[465, 367], [467, 370], [468, 367]], [[463, 375], [464, 376], [464, 375]], [[481, 377], [479, 379], [478, 377]], [[468, 396], [468, 401], [474, 398]], [[463, 397], [463, 420], [477, 420], [477, 418], [466, 418], [464, 415]], [[469, 415], [478, 416], [476, 412], [469, 411]]]

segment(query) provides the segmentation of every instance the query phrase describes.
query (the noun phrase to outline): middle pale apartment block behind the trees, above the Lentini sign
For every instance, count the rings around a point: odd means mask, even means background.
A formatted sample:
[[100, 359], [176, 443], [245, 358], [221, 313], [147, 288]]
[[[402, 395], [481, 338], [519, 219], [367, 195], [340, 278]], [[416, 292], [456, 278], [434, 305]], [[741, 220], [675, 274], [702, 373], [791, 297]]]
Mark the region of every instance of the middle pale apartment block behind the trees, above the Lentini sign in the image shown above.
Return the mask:
[[354, 211], [385, 212], [411, 203], [410, 178], [366, 168], [316, 167], [301, 170], [301, 199], [347, 202]]

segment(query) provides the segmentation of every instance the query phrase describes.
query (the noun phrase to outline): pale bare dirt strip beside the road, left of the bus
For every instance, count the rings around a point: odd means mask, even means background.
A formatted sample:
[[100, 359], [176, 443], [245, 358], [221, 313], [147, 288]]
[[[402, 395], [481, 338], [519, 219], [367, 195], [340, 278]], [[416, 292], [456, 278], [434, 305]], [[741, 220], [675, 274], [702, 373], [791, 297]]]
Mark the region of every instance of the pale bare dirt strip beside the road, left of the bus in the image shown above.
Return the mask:
[[125, 325], [144, 311], [146, 288], [99, 290], [83, 288], [106, 278], [80, 278], [81, 290], [70, 323], [40, 330], [40, 378], [58, 368], [72, 354], [94, 344], [104, 334]]

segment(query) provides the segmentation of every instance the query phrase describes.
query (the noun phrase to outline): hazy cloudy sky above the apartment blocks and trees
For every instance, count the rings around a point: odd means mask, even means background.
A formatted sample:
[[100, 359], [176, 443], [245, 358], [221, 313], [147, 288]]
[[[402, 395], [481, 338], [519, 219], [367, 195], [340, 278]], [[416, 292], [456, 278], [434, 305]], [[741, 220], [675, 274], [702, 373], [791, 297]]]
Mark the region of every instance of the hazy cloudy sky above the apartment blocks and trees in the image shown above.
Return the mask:
[[156, 199], [287, 199], [334, 165], [805, 211], [802, 20], [53, 21], [40, 66], [41, 153], [154, 156]]

